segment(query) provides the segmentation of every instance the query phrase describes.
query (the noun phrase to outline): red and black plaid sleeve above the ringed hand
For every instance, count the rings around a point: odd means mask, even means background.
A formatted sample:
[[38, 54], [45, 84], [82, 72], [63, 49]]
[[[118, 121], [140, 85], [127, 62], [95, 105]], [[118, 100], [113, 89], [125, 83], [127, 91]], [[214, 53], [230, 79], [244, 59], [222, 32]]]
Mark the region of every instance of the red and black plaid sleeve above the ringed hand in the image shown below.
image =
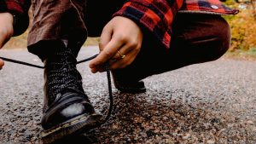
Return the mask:
[[142, 24], [168, 49], [172, 21], [182, 5], [183, 0], [129, 0], [113, 16], [125, 16]]

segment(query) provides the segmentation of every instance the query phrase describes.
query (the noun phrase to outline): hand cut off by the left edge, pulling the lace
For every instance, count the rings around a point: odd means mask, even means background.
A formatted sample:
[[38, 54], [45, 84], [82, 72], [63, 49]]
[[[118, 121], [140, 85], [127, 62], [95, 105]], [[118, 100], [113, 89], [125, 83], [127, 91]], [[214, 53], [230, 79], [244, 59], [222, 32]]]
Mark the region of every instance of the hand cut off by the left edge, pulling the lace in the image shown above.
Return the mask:
[[[5, 43], [9, 41], [14, 33], [14, 17], [9, 13], [0, 13], [0, 49]], [[4, 63], [0, 59], [0, 70], [2, 69]]]

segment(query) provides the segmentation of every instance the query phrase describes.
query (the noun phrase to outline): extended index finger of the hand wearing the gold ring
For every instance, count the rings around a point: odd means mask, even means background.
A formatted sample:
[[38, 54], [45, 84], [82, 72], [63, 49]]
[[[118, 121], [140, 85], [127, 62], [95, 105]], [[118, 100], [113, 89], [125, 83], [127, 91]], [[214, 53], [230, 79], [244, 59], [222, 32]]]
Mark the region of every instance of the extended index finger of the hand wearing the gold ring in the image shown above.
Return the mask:
[[102, 52], [95, 59], [90, 61], [89, 67], [94, 68], [107, 62], [110, 58], [113, 57], [113, 55], [115, 55], [116, 51], [123, 44], [124, 43], [120, 42], [118, 38], [112, 38], [111, 41], [102, 50]]

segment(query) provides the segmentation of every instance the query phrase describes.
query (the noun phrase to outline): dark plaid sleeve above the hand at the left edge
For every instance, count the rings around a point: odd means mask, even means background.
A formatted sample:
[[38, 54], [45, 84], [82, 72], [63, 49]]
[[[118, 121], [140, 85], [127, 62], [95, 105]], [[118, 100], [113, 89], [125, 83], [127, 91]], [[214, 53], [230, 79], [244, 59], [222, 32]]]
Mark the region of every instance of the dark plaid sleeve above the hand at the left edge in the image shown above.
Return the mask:
[[0, 12], [9, 12], [15, 15], [14, 36], [18, 36], [26, 31], [29, 24], [29, 17], [27, 14], [30, 8], [30, 0], [1, 0]]

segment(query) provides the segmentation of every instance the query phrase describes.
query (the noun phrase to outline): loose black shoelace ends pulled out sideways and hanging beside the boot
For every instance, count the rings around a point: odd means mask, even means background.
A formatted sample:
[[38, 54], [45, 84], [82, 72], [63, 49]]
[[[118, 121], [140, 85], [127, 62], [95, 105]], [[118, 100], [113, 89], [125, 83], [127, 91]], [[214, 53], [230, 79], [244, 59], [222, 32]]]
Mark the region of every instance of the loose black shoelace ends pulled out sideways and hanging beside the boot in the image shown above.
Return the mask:
[[[93, 55], [93, 56], [91, 56], [91, 57], [89, 57], [89, 58], [87, 58], [87, 59], [79, 60], [79, 61], [77, 62], [77, 64], [80, 64], [80, 63], [83, 63], [83, 62], [92, 60], [92, 59], [96, 58], [96, 56], [97, 56], [97, 55]], [[32, 67], [37, 67], [37, 68], [44, 69], [44, 66], [33, 65], [33, 64], [30, 64], [30, 63], [27, 63], [27, 62], [24, 62], [24, 61], [20, 61], [20, 60], [8, 59], [8, 58], [1, 57], [1, 56], [0, 56], [0, 59], [3, 59], [3, 60], [5, 60], [5, 61], [9, 61], [9, 62], [13, 62], [13, 63], [16, 63], [16, 64], [20, 64], [20, 65], [32, 66]], [[107, 114], [107, 116], [105, 117], [105, 120], [104, 120], [103, 123], [105, 123], [105, 122], [108, 121], [108, 118], [110, 118], [111, 112], [112, 112], [112, 110], [113, 110], [113, 92], [112, 92], [111, 76], [110, 76], [110, 69], [109, 69], [109, 63], [108, 63], [108, 62], [105, 64], [105, 69], [106, 69], [107, 78], [108, 78], [109, 108], [108, 108], [108, 114]]]

